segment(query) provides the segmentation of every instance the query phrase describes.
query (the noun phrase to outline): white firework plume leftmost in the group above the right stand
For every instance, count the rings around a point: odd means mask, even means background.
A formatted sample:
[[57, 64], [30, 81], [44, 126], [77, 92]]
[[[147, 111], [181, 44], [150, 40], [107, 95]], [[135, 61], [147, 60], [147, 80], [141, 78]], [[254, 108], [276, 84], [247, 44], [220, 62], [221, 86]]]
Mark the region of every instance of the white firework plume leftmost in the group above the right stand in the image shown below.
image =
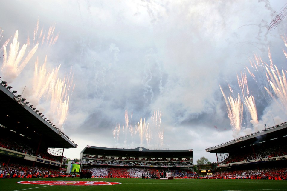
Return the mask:
[[230, 119], [230, 125], [233, 127], [234, 130], [239, 132], [241, 129], [242, 118], [243, 118], [243, 104], [240, 100], [240, 96], [238, 94], [237, 99], [234, 100], [232, 96], [229, 95], [227, 100], [220, 85], [219, 87], [227, 106], [227, 114], [228, 118]]

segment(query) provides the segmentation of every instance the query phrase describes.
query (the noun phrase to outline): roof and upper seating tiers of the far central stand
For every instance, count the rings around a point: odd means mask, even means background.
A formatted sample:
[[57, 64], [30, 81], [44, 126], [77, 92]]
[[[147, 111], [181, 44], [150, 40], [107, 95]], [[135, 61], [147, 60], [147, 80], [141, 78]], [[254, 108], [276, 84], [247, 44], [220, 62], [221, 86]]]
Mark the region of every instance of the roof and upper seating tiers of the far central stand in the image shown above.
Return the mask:
[[86, 146], [80, 154], [80, 162], [99, 167], [182, 168], [193, 172], [193, 150]]

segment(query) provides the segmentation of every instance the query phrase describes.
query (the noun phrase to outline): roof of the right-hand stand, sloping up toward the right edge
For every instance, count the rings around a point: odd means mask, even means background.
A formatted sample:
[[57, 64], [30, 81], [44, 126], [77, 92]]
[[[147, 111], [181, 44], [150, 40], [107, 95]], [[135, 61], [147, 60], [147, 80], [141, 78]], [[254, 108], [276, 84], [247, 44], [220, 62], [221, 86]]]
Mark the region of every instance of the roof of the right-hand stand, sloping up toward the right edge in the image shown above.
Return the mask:
[[207, 148], [205, 151], [210, 153], [228, 153], [249, 145], [258, 145], [260, 143], [272, 144], [272, 142], [278, 143], [281, 141], [287, 141], [287, 122], [272, 127], [266, 126], [264, 130]]

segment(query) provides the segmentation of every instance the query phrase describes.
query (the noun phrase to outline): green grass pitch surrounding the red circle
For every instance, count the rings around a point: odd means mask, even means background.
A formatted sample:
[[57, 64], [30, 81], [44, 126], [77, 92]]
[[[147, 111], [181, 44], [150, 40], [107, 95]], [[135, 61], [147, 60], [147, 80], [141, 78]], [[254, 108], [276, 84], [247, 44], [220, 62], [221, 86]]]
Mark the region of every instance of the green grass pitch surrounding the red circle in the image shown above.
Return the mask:
[[[19, 181], [33, 180], [68, 180], [68, 181], [107, 181], [122, 184], [109, 186], [48, 186], [19, 184]], [[287, 181], [284, 180], [231, 180], [231, 179], [174, 179], [174, 180], [143, 180], [135, 178], [11, 178], [0, 179], [2, 191], [167, 191], [167, 190], [192, 190], [192, 191], [223, 191], [223, 190], [287, 190]]]

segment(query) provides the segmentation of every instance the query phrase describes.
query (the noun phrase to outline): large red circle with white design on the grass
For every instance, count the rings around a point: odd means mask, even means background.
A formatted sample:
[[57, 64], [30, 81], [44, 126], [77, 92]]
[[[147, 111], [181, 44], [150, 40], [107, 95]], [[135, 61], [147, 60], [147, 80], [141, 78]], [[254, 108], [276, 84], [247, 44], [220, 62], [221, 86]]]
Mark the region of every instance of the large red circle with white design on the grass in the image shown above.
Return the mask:
[[34, 180], [34, 181], [21, 181], [20, 184], [38, 184], [38, 185], [71, 185], [71, 186], [103, 186], [103, 185], [116, 185], [122, 184], [120, 182], [103, 182], [103, 181], [46, 181], [46, 180]]

